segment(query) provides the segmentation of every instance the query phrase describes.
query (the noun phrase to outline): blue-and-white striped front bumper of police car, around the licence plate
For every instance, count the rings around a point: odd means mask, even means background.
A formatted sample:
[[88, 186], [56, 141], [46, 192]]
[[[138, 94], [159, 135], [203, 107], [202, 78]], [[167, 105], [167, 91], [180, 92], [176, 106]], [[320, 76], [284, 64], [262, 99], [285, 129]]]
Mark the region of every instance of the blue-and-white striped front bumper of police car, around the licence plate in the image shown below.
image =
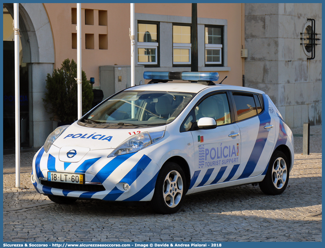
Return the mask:
[[[37, 192], [107, 201], [151, 200], [159, 167], [147, 155], [136, 152], [107, 158], [107, 150], [92, 150], [79, 162], [67, 163], [59, 160], [59, 148], [52, 147], [47, 154], [41, 148], [34, 156], [32, 183]], [[47, 181], [48, 171], [84, 173], [85, 184]], [[124, 183], [129, 189], [123, 189]]]

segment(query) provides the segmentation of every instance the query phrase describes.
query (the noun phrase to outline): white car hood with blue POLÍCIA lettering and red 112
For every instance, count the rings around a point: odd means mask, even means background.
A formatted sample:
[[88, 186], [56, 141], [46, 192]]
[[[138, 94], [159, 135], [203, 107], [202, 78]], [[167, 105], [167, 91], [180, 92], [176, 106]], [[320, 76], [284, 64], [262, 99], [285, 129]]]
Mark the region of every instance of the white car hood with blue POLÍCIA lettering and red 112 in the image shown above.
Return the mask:
[[59, 148], [69, 146], [87, 147], [90, 150], [112, 149], [135, 134], [165, 129], [166, 126], [137, 129], [100, 129], [83, 127], [75, 122], [64, 130], [53, 145]]

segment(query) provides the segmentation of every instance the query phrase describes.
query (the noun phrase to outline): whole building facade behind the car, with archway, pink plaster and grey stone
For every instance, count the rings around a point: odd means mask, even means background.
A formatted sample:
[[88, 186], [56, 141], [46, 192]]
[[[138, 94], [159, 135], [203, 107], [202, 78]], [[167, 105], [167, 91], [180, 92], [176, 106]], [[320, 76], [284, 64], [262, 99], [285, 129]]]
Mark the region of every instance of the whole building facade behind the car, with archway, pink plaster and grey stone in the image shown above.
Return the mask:
[[[81, 8], [82, 68], [88, 79], [95, 79], [94, 88], [102, 89], [104, 97], [108, 97], [117, 89], [130, 87], [130, 4], [83, 3]], [[304, 46], [295, 44], [300, 42], [297, 34], [300, 35], [304, 28], [300, 27], [302, 19], [315, 18], [317, 31], [321, 29], [321, 6], [315, 6], [315, 13], [308, 7], [309, 12], [305, 11], [303, 16], [300, 14], [304, 6], [295, 4], [199, 3], [197, 9], [199, 71], [217, 71], [220, 80], [228, 76], [223, 82], [225, 84], [244, 84], [266, 91], [291, 127], [305, 122], [305, 116], [291, 115], [293, 111], [302, 113], [305, 108], [312, 124], [321, 123], [321, 91], [309, 89], [311, 85], [315, 89], [321, 87], [321, 45], [316, 47], [315, 59], [307, 61], [311, 55], [307, 52], [304, 57]], [[282, 21], [282, 17], [288, 17], [290, 24]], [[66, 58], [76, 61], [76, 18], [76, 4], [19, 4], [20, 114], [26, 146], [42, 146], [55, 127], [43, 106], [45, 80], [47, 73], [52, 74], [53, 69], [59, 68]], [[4, 4], [4, 61], [8, 61], [4, 63], [4, 82], [9, 82], [6, 86], [4, 83], [4, 117], [7, 123], [4, 126], [8, 130], [4, 142], [8, 144], [14, 141], [9, 135], [12, 133], [14, 103], [14, 67], [9, 59], [13, 53], [12, 19], [13, 5]], [[273, 22], [267, 26], [268, 21]], [[274, 23], [278, 29], [271, 28]], [[295, 31], [292, 40], [286, 41], [281, 36], [286, 33], [281, 30], [283, 25], [289, 25], [287, 29]], [[272, 36], [269, 37], [270, 32]], [[190, 71], [190, 36], [190, 3], [136, 3], [133, 51], [137, 66], [136, 84], [144, 81], [144, 70]], [[294, 43], [293, 47], [282, 45], [282, 40], [285, 44]], [[247, 58], [241, 54], [241, 49], [245, 48], [248, 49]], [[277, 55], [273, 55], [275, 50]], [[303, 69], [308, 75], [294, 72]], [[285, 79], [287, 74], [290, 83]], [[308, 88], [308, 93], [304, 87]], [[300, 93], [303, 99], [296, 98]]]

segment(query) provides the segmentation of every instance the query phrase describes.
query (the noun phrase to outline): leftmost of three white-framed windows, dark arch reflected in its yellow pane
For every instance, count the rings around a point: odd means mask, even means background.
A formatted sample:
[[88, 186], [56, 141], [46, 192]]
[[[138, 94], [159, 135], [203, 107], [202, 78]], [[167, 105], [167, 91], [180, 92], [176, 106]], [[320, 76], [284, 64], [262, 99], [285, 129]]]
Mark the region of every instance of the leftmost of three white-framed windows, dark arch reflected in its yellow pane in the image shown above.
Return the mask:
[[138, 21], [137, 46], [138, 64], [145, 66], [158, 65], [159, 25], [153, 22]]

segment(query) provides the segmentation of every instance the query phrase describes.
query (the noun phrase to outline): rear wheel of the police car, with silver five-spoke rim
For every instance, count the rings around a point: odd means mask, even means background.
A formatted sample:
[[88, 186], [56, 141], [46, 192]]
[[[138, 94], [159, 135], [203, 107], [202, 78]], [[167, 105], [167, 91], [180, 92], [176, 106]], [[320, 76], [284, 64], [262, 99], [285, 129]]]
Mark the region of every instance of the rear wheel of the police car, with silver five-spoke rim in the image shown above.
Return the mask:
[[281, 151], [275, 151], [270, 159], [265, 178], [258, 185], [263, 193], [268, 195], [281, 194], [289, 181], [289, 162]]

